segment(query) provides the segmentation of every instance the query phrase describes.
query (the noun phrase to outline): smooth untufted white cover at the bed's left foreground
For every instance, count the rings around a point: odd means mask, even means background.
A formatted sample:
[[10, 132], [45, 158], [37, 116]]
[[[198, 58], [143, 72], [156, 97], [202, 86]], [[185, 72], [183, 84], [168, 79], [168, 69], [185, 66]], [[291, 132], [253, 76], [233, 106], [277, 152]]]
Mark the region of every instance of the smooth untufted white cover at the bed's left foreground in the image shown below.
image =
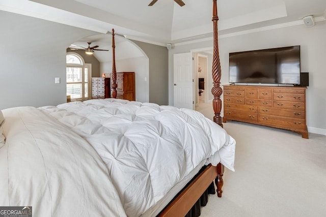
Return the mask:
[[0, 206], [32, 206], [33, 216], [126, 216], [93, 147], [34, 107], [3, 110]]

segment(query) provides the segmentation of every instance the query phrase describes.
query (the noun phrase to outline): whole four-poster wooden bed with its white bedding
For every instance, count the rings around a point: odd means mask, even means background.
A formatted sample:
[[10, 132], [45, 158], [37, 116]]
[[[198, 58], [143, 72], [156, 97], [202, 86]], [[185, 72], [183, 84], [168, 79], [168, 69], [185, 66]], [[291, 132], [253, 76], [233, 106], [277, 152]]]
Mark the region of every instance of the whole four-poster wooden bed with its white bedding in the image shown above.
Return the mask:
[[214, 0], [213, 121], [115, 99], [113, 31], [113, 98], [0, 113], [0, 206], [32, 206], [34, 216], [184, 216], [215, 178], [221, 197], [235, 141], [220, 116], [217, 21]]

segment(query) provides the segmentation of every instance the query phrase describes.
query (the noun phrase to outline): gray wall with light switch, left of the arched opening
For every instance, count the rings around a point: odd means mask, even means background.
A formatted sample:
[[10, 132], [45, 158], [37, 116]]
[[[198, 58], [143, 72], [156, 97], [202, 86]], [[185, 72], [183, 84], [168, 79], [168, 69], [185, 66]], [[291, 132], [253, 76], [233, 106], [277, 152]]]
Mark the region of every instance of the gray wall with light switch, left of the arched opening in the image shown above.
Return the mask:
[[66, 48], [98, 33], [4, 11], [0, 20], [0, 109], [66, 102]]

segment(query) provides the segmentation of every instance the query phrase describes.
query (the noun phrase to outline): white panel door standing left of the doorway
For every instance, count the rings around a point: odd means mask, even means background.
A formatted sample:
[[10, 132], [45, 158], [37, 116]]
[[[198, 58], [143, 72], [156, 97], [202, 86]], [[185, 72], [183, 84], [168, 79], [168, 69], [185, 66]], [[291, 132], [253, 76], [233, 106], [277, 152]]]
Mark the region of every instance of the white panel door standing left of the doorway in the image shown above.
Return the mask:
[[174, 63], [174, 106], [193, 109], [193, 58], [191, 53], [178, 53]]

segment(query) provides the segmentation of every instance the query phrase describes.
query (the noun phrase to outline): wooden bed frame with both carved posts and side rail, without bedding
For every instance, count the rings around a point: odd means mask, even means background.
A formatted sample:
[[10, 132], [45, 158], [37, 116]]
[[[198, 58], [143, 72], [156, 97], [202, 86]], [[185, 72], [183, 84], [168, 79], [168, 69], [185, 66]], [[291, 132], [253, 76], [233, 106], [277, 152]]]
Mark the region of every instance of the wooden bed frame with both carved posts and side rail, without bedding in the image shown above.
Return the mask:
[[[221, 64], [219, 56], [219, 44], [218, 44], [218, 6], [216, 0], [213, 0], [213, 65], [212, 65], [212, 77], [213, 88], [211, 90], [213, 99], [214, 117], [213, 121], [223, 127], [221, 109], [222, 109], [222, 88], [220, 86], [221, 81]], [[117, 71], [115, 60], [115, 40], [114, 29], [112, 29], [112, 52], [113, 52], [113, 64], [111, 75], [111, 88], [112, 97], [117, 97]], [[205, 190], [209, 187], [212, 180], [215, 179], [217, 186], [216, 192], [218, 197], [222, 197], [223, 187], [223, 173], [224, 165], [221, 163], [217, 166], [209, 165], [206, 169], [192, 182], [190, 183], [171, 203], [168, 207], [162, 211], [159, 216], [185, 216], [187, 212], [193, 207], [196, 201], [201, 197]]]

